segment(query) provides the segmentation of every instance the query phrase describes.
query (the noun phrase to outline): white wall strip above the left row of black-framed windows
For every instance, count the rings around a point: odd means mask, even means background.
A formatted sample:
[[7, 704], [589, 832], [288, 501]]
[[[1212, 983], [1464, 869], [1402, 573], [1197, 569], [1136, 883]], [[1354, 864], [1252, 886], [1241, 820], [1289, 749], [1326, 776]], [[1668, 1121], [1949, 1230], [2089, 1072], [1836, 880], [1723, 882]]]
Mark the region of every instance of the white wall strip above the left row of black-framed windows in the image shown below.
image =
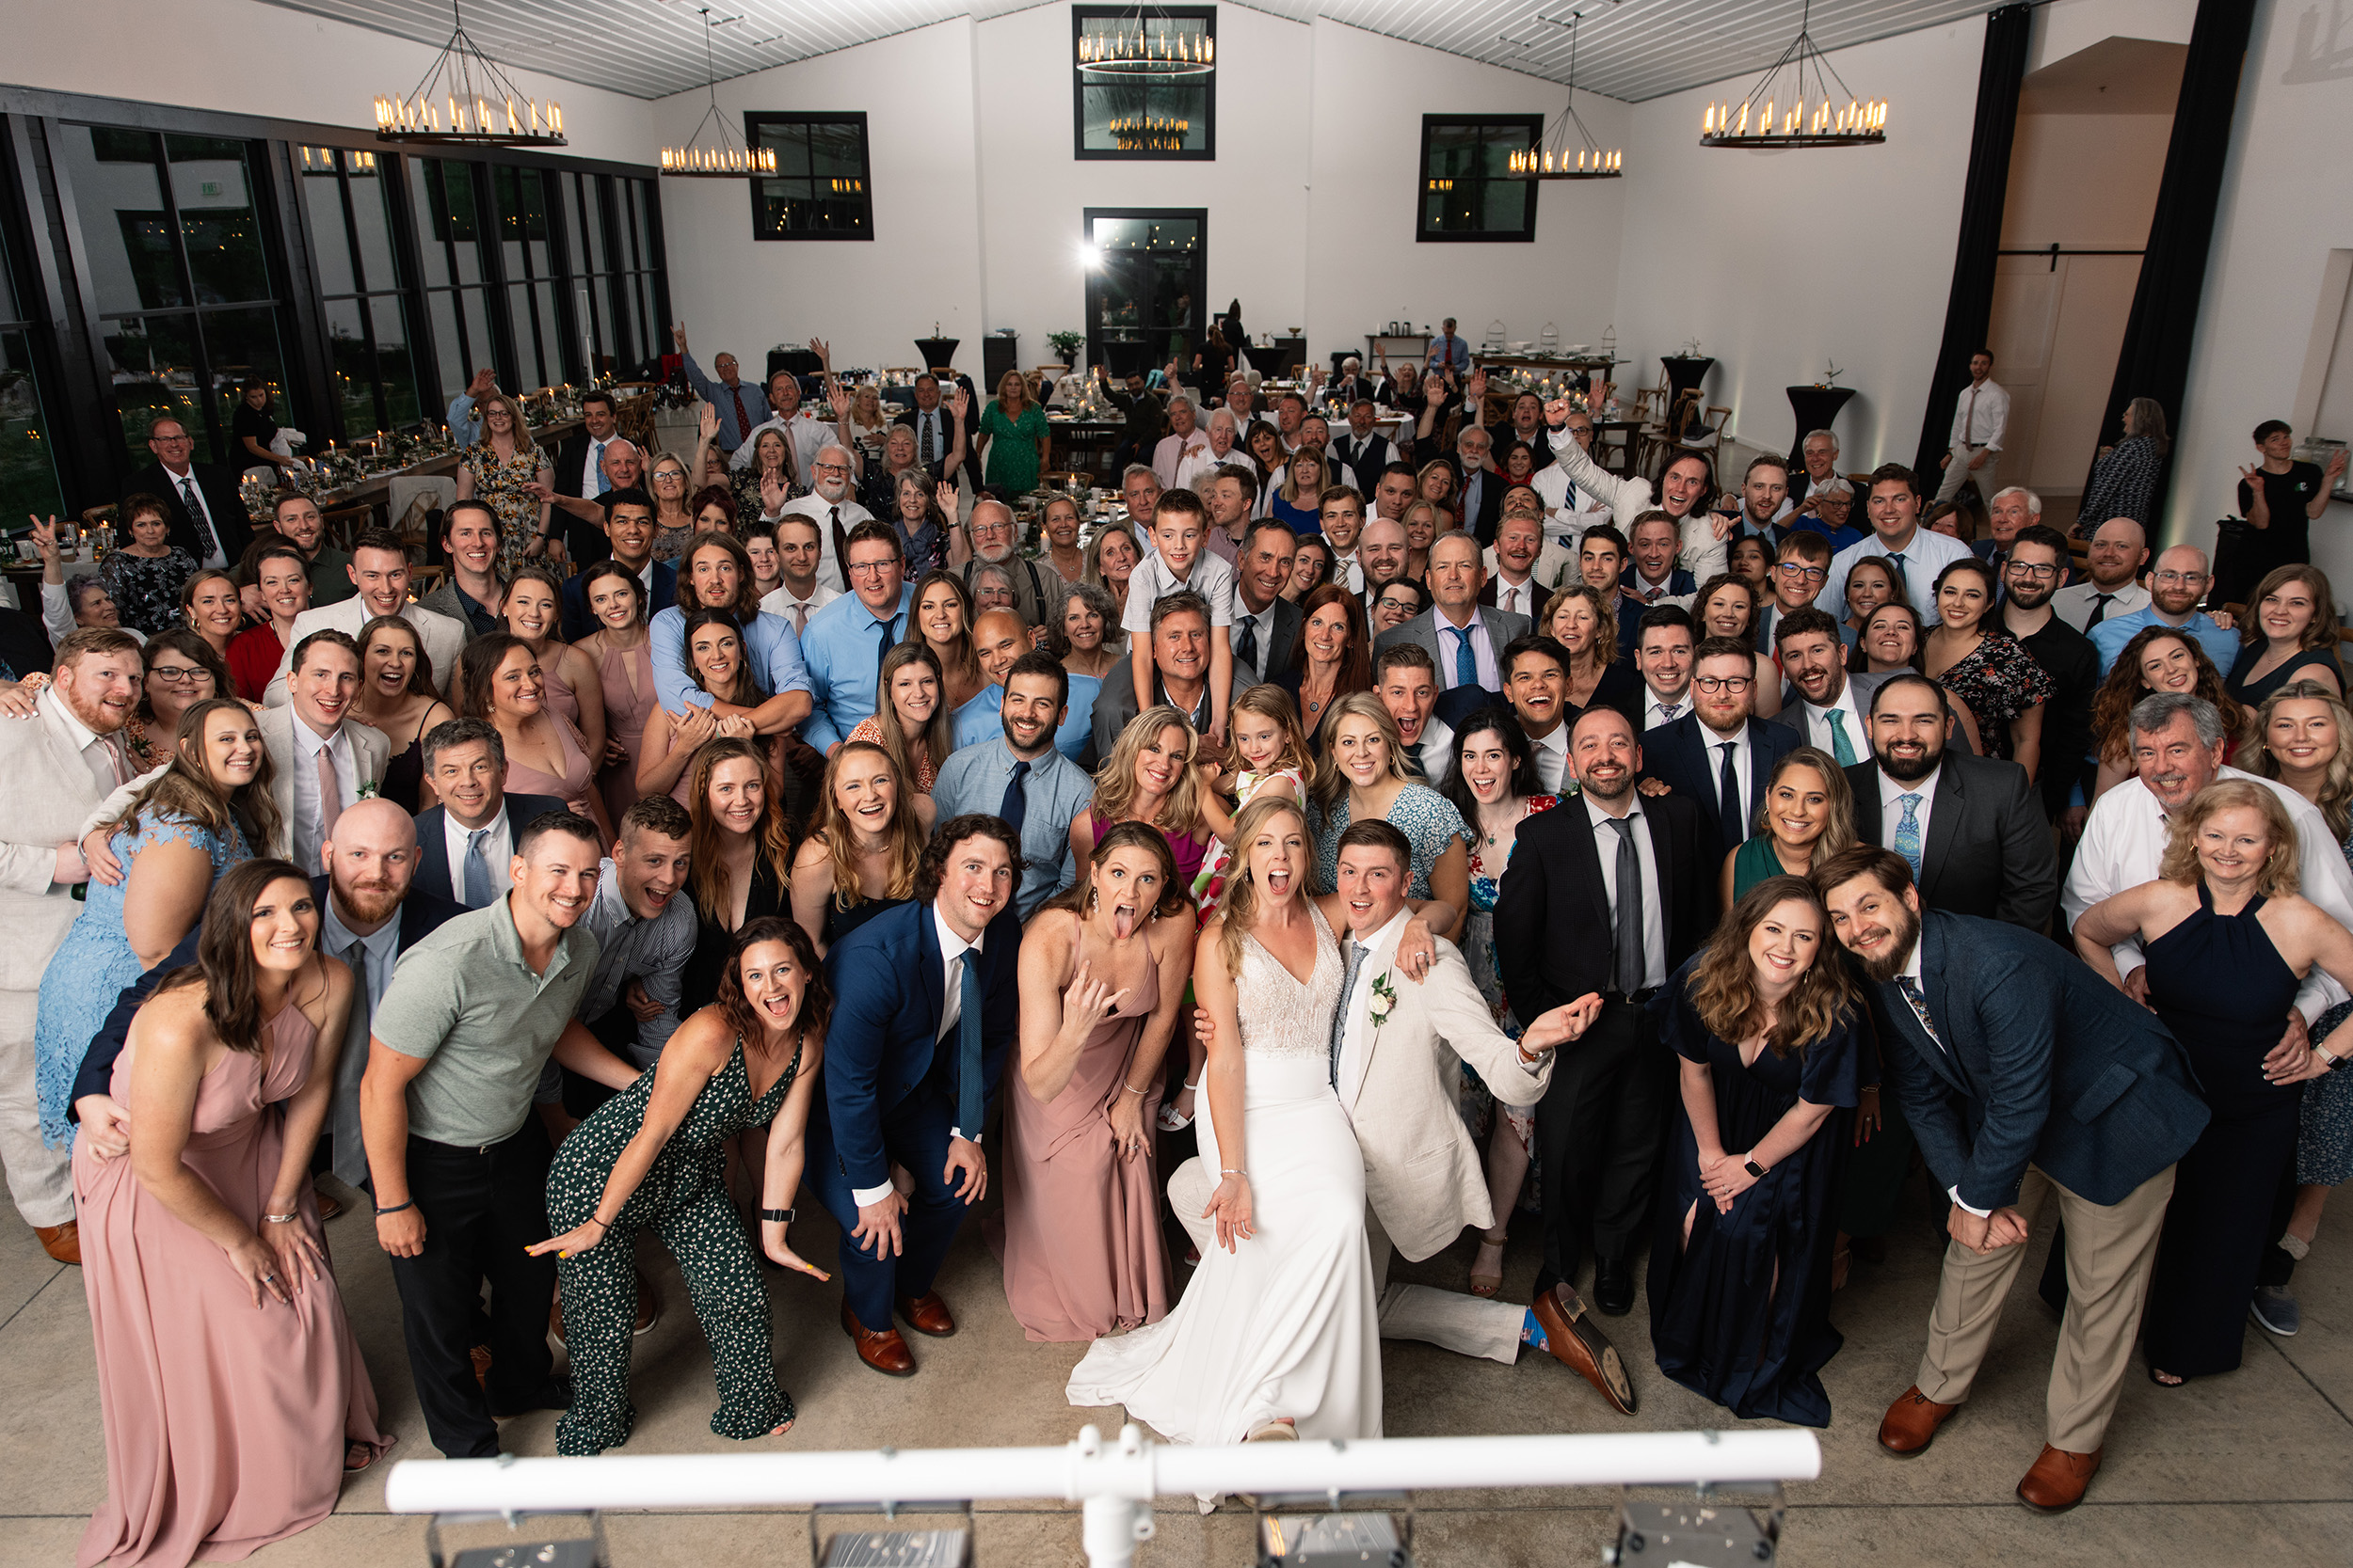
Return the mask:
[[[412, 89], [440, 49], [254, 0], [14, 0], [7, 52], [19, 87], [374, 129], [374, 96]], [[645, 99], [513, 78], [565, 106], [572, 153], [656, 160]]]

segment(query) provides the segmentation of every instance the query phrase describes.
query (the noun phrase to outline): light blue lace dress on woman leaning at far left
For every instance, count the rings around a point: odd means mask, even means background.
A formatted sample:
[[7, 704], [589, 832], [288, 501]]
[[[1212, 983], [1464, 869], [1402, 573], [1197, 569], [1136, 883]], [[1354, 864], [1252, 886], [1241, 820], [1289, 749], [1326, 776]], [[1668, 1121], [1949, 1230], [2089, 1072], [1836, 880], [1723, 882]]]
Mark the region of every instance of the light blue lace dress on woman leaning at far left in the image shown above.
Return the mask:
[[132, 884], [132, 865], [155, 844], [195, 844], [212, 856], [212, 879], [252, 858], [245, 835], [231, 825], [228, 837], [186, 816], [141, 813], [139, 832], [118, 827], [108, 849], [122, 860], [122, 882], [89, 884], [87, 903], [66, 931], [56, 957], [40, 976], [40, 1016], [33, 1023], [33, 1081], [40, 1091], [40, 1135], [49, 1147], [73, 1140], [66, 1110], [73, 1098], [73, 1074], [82, 1070], [89, 1037], [115, 1011], [122, 987], [144, 971], [132, 938], [122, 929], [122, 896]]

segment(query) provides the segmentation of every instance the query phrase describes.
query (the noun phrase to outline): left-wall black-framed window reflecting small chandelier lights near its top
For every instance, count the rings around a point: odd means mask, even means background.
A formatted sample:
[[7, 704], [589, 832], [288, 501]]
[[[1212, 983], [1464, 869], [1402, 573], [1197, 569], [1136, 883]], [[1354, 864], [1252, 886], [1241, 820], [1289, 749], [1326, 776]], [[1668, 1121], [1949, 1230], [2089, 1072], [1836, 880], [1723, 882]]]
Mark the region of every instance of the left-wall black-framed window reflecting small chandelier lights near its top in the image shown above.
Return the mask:
[[[393, 233], [391, 160], [379, 162], [367, 150], [304, 146], [296, 167], [341, 421], [334, 435], [360, 440], [414, 425], [424, 418], [424, 400], [409, 353], [412, 280], [405, 277]], [[322, 433], [311, 435], [313, 449], [325, 444]]]

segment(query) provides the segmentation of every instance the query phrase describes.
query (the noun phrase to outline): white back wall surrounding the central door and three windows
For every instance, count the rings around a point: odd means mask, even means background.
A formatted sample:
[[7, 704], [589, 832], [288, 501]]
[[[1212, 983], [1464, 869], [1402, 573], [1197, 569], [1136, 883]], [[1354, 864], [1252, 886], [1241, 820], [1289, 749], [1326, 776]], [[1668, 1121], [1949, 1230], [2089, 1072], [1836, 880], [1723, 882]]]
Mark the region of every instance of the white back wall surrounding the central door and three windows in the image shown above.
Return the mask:
[[[1459, 315], [1478, 341], [1600, 341], [1612, 322], [1628, 181], [1551, 183], [1534, 244], [1419, 244], [1424, 113], [1551, 118], [1562, 89], [1329, 21], [1219, 9], [1214, 162], [1071, 155], [1071, 14], [1042, 5], [901, 33], [720, 85], [720, 108], [866, 110], [875, 240], [755, 242], [729, 181], [664, 188], [671, 299], [699, 355], [748, 360], [784, 339], [831, 339], [838, 364], [908, 364], [932, 322], [979, 371], [984, 331], [1014, 327], [1021, 362], [1049, 331], [1085, 327], [1087, 207], [1202, 207], [1209, 306], [1242, 301], [1254, 331], [1304, 327], [1311, 355], [1362, 350], [1398, 315]], [[701, 92], [656, 106], [682, 139]], [[1621, 143], [1628, 108], [1579, 96], [1595, 136]], [[1320, 195], [1318, 195], [1320, 193]]]

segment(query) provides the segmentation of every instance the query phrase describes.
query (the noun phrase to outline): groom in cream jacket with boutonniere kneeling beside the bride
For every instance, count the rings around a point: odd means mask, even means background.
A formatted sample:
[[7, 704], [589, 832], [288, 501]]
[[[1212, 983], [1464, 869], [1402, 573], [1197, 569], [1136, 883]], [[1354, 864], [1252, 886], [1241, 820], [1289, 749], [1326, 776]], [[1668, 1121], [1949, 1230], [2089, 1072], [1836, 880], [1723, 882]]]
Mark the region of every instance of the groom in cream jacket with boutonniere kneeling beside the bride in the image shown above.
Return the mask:
[[[1506, 1105], [1534, 1105], [1553, 1079], [1553, 1046], [1577, 1039], [1600, 1016], [1600, 997], [1581, 997], [1537, 1018], [1513, 1041], [1497, 1027], [1461, 952], [1435, 940], [1424, 969], [1402, 964], [1398, 945], [1414, 919], [1405, 903], [1412, 846], [1386, 820], [1353, 823], [1339, 839], [1337, 889], [1320, 905], [1334, 931], [1346, 929], [1346, 980], [1332, 1027], [1332, 1088], [1365, 1154], [1365, 1241], [1381, 1291], [1381, 1338], [1424, 1340], [1511, 1366], [1522, 1345], [1553, 1352], [1607, 1396], [1598, 1356], [1574, 1333], [1548, 1342], [1527, 1307], [1388, 1279], [1391, 1255], [1421, 1262], [1452, 1246], [1466, 1225], [1494, 1225], [1487, 1171], [1454, 1107], [1461, 1063]], [[1172, 1182], [1172, 1199], [1174, 1192]], [[1176, 1201], [1186, 1225], [1202, 1204]], [[1202, 1248], [1207, 1232], [1195, 1234]], [[1602, 1342], [1607, 1347], [1607, 1342]], [[1614, 1361], [1614, 1352], [1609, 1352]], [[1624, 1385], [1624, 1373], [1617, 1371]]]

